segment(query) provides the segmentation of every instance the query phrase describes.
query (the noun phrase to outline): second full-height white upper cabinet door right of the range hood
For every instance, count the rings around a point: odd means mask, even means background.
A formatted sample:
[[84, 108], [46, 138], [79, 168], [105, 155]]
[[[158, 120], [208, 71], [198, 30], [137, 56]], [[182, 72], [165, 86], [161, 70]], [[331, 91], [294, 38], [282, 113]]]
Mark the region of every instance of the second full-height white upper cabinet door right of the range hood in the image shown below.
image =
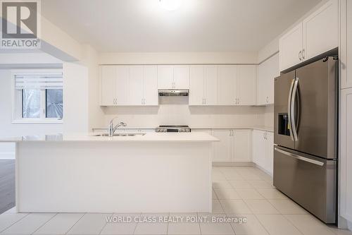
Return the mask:
[[218, 67], [204, 68], [204, 99], [206, 105], [218, 104]]

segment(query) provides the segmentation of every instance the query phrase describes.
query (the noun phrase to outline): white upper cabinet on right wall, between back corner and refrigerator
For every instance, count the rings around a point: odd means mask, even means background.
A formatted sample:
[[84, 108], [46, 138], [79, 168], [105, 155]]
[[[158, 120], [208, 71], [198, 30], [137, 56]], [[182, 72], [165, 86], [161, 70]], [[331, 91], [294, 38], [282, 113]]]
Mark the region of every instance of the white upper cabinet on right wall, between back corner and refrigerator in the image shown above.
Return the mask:
[[279, 53], [258, 65], [257, 104], [274, 104], [274, 79], [279, 73]]

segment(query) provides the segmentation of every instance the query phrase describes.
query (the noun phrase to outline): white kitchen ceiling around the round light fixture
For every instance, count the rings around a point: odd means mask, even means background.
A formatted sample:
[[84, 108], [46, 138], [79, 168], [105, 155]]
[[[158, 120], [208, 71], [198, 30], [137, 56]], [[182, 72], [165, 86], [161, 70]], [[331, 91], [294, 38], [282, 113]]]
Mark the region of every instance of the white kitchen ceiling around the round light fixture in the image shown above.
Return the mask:
[[256, 52], [320, 0], [42, 0], [42, 15], [99, 52]]

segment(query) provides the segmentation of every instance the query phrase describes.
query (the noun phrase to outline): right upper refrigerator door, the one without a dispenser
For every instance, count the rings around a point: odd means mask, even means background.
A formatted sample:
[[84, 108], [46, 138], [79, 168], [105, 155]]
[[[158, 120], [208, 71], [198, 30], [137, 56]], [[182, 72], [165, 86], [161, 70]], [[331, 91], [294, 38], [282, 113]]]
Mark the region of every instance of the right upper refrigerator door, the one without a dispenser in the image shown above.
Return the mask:
[[[328, 159], [336, 158], [337, 60], [316, 61], [296, 70], [295, 149]], [[295, 116], [295, 115], [294, 115]], [[295, 130], [294, 130], [295, 131]]]

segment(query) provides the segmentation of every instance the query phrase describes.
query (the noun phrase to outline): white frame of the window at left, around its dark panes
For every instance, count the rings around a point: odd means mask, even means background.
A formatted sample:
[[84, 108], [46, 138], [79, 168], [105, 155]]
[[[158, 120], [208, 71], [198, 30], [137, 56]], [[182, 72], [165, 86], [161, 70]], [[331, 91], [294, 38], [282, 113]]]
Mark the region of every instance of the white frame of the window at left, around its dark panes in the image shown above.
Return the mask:
[[15, 89], [15, 76], [20, 74], [43, 74], [43, 73], [62, 73], [62, 69], [21, 69], [11, 71], [11, 91], [12, 95], [12, 123], [13, 124], [61, 124], [63, 119], [46, 118], [46, 89], [40, 89], [40, 117], [39, 118], [23, 118], [23, 90]]

